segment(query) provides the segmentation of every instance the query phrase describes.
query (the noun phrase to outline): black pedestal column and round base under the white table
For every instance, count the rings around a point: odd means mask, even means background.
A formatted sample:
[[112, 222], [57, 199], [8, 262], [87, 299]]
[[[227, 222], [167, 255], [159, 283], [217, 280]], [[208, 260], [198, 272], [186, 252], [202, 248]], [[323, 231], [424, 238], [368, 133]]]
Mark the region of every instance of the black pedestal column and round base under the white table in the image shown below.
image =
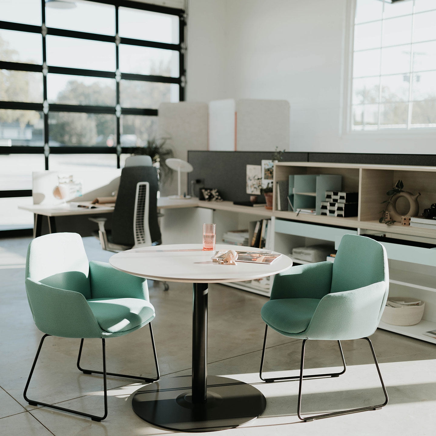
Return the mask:
[[194, 283], [192, 375], [162, 377], [132, 395], [136, 415], [170, 430], [209, 432], [237, 427], [259, 416], [266, 399], [254, 386], [207, 376], [208, 284]]

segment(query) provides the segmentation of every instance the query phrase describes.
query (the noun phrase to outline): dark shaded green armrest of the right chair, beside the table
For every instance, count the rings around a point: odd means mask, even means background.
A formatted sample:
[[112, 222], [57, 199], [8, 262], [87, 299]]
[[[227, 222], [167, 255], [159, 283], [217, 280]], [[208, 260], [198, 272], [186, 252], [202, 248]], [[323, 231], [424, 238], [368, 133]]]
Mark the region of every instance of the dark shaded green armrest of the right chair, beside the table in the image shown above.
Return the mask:
[[332, 262], [291, 266], [274, 277], [270, 299], [320, 299], [330, 292], [332, 271]]

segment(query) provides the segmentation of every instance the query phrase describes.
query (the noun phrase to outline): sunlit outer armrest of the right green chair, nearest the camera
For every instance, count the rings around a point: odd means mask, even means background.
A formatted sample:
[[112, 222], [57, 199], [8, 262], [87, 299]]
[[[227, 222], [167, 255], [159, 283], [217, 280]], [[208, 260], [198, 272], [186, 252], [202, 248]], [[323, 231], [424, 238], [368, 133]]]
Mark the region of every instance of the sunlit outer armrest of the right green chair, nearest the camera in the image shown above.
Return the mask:
[[385, 308], [386, 283], [324, 296], [306, 330], [308, 339], [346, 341], [375, 332]]

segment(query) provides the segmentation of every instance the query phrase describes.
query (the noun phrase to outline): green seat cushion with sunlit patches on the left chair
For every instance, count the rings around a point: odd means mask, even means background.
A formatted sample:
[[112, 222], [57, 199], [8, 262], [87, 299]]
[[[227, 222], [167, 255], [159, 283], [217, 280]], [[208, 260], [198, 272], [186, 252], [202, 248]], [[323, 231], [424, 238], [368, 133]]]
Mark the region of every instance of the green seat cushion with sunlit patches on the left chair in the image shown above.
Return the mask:
[[92, 298], [86, 301], [99, 326], [109, 333], [131, 330], [154, 318], [153, 305], [140, 298]]

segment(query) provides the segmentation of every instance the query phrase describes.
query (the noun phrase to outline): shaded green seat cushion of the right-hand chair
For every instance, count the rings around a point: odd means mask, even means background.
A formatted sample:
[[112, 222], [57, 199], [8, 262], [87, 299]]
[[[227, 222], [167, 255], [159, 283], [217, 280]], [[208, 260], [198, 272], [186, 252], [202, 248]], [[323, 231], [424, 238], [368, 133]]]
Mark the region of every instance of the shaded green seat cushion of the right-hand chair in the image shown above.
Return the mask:
[[260, 313], [274, 330], [297, 334], [307, 329], [319, 302], [317, 298], [279, 298], [267, 301]]

